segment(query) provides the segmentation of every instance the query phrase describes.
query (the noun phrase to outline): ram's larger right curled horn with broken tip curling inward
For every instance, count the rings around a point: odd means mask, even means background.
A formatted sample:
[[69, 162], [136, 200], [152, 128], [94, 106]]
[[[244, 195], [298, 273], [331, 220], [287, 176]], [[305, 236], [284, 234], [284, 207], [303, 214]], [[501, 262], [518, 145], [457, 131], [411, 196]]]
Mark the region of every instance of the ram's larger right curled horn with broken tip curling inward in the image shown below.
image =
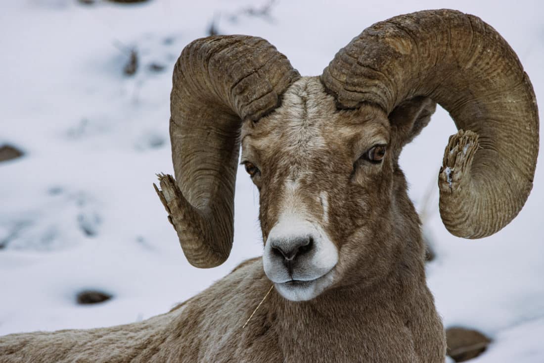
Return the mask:
[[428, 10], [376, 23], [338, 51], [322, 80], [339, 107], [371, 102], [389, 114], [428, 96], [450, 113], [459, 132], [438, 185], [452, 234], [486, 237], [523, 207], [539, 146], [536, 99], [514, 51], [478, 17]]

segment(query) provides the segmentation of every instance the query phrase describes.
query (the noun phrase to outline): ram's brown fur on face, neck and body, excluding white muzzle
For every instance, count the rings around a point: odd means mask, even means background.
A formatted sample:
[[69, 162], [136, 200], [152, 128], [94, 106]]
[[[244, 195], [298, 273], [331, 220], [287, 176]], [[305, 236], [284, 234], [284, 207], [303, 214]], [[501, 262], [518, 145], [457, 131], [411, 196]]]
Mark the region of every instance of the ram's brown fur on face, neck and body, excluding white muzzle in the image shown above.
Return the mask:
[[[296, 178], [302, 199], [323, 218], [339, 249], [333, 285], [310, 301], [273, 290], [261, 259], [170, 312], [143, 322], [91, 330], [13, 334], [0, 338], [0, 362], [443, 362], [442, 323], [425, 283], [419, 219], [397, 165], [406, 131], [419, 132], [425, 112], [412, 107], [390, 126], [378, 108], [337, 111], [318, 78], [303, 78], [266, 120], [243, 128], [243, 158], [261, 168], [261, 225], [266, 239], [277, 218], [282, 181]], [[414, 111], [416, 110], [416, 111]], [[395, 123], [392, 122], [392, 123]], [[388, 142], [381, 165], [356, 165], [375, 140]]]

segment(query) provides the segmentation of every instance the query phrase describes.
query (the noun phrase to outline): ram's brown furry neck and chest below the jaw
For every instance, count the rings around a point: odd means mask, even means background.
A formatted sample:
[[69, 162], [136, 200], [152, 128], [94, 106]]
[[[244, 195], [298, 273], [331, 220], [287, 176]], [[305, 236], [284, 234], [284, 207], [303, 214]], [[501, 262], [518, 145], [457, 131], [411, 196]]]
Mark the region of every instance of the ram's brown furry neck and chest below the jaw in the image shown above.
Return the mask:
[[[360, 361], [361, 352], [369, 352], [368, 361], [437, 361], [437, 356], [429, 357], [422, 350], [441, 352], [443, 334], [426, 287], [420, 222], [407, 196], [404, 176], [399, 172], [397, 177], [400, 183], [392, 198], [391, 225], [384, 228], [394, 246], [388, 270], [367, 284], [363, 276], [368, 267], [358, 265], [349, 271], [349, 279], [342, 280], [349, 281], [345, 286], [307, 302], [273, 295], [269, 316], [275, 317], [288, 361], [323, 360], [325, 347], [332, 346], [345, 347], [346, 361]], [[414, 350], [404, 360], [387, 355], [399, 346]]]

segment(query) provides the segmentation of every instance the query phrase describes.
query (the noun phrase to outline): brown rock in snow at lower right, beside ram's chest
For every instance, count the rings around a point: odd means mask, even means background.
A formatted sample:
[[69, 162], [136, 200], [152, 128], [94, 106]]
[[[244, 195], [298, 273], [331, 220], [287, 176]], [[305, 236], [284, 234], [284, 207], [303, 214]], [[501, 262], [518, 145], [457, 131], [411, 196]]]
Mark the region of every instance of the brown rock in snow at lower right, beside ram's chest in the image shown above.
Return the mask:
[[453, 327], [446, 329], [447, 354], [456, 362], [476, 358], [491, 343], [491, 339], [473, 329]]

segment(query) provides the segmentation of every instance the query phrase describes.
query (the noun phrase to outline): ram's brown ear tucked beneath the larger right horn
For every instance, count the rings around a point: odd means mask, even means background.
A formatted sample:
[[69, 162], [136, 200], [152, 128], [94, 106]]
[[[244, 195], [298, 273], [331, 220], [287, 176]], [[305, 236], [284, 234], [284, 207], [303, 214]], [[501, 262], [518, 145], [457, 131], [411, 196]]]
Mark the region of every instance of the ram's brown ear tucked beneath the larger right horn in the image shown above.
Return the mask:
[[436, 102], [423, 96], [406, 100], [395, 107], [388, 116], [393, 148], [400, 153], [400, 149], [429, 123], [435, 110]]

